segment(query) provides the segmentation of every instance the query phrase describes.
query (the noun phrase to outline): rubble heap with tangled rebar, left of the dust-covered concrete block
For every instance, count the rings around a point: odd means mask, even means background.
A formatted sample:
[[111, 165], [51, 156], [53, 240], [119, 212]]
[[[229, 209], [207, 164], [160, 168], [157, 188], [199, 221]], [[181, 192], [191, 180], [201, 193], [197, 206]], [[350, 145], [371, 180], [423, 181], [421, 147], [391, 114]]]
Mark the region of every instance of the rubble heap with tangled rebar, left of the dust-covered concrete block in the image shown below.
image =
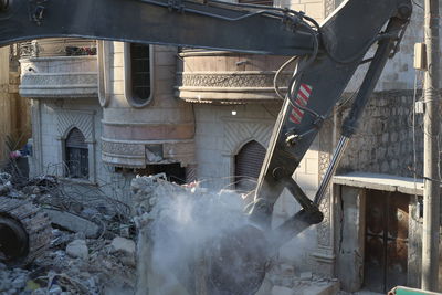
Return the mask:
[[21, 183], [7, 173], [0, 178], [0, 204], [8, 199], [29, 202], [51, 218], [48, 251], [24, 265], [0, 260], [0, 294], [134, 293], [135, 229], [129, 214], [66, 198], [55, 177]]

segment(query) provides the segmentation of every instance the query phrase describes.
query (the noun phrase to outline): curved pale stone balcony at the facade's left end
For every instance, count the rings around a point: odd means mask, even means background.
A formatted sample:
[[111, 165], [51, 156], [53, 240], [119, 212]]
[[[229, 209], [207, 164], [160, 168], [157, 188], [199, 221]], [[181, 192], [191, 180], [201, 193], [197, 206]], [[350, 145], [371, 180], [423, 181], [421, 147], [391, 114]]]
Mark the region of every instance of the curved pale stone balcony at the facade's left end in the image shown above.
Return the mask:
[[43, 39], [21, 45], [20, 95], [30, 98], [97, 97], [95, 41]]

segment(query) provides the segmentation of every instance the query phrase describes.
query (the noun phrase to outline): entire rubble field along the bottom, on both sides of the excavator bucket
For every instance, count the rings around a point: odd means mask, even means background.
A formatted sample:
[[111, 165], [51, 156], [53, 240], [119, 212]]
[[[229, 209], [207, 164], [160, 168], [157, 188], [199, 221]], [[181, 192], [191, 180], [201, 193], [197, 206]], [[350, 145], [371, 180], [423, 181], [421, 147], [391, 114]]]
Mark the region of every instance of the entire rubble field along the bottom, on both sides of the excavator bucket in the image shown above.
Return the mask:
[[[20, 200], [51, 219], [49, 249], [31, 263], [11, 264], [0, 255], [0, 294], [210, 295], [208, 245], [248, 222], [243, 196], [178, 186], [165, 175], [135, 178], [130, 208], [85, 203], [67, 189], [51, 176], [18, 183], [0, 175], [0, 206]], [[336, 294], [337, 288], [335, 280], [274, 257], [256, 294]]]

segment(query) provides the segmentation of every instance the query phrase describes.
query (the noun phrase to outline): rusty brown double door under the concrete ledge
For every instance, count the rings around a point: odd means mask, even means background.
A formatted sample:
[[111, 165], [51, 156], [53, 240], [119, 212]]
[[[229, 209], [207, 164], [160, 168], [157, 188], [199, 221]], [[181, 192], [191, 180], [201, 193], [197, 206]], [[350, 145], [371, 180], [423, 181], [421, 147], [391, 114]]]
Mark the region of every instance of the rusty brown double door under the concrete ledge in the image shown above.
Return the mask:
[[410, 196], [367, 190], [365, 288], [387, 293], [407, 285]]

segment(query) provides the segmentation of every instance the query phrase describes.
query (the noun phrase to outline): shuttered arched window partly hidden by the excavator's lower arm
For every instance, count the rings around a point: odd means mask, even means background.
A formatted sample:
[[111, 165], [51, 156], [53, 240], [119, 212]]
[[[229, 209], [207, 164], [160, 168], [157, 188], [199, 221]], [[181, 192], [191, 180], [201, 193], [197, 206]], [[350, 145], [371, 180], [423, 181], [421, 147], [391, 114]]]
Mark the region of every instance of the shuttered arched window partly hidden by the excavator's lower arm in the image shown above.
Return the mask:
[[265, 148], [257, 141], [245, 144], [235, 156], [235, 188], [241, 191], [253, 190], [265, 157]]

